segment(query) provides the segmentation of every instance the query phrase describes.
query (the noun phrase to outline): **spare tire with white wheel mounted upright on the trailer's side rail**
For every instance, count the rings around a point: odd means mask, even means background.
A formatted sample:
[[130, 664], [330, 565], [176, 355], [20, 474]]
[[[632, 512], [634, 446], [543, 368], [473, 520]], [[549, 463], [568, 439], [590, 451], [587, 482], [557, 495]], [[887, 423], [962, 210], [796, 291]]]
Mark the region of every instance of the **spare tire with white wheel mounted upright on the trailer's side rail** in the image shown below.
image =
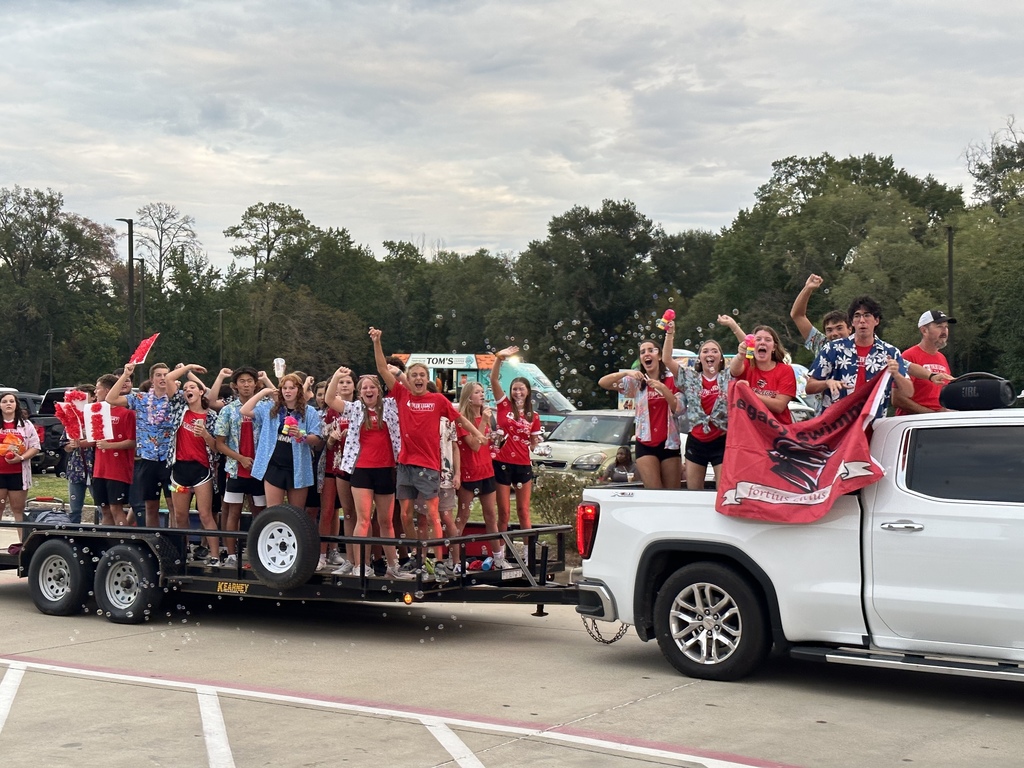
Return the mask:
[[246, 547], [256, 578], [267, 587], [288, 590], [316, 571], [319, 530], [304, 509], [279, 504], [253, 518]]

